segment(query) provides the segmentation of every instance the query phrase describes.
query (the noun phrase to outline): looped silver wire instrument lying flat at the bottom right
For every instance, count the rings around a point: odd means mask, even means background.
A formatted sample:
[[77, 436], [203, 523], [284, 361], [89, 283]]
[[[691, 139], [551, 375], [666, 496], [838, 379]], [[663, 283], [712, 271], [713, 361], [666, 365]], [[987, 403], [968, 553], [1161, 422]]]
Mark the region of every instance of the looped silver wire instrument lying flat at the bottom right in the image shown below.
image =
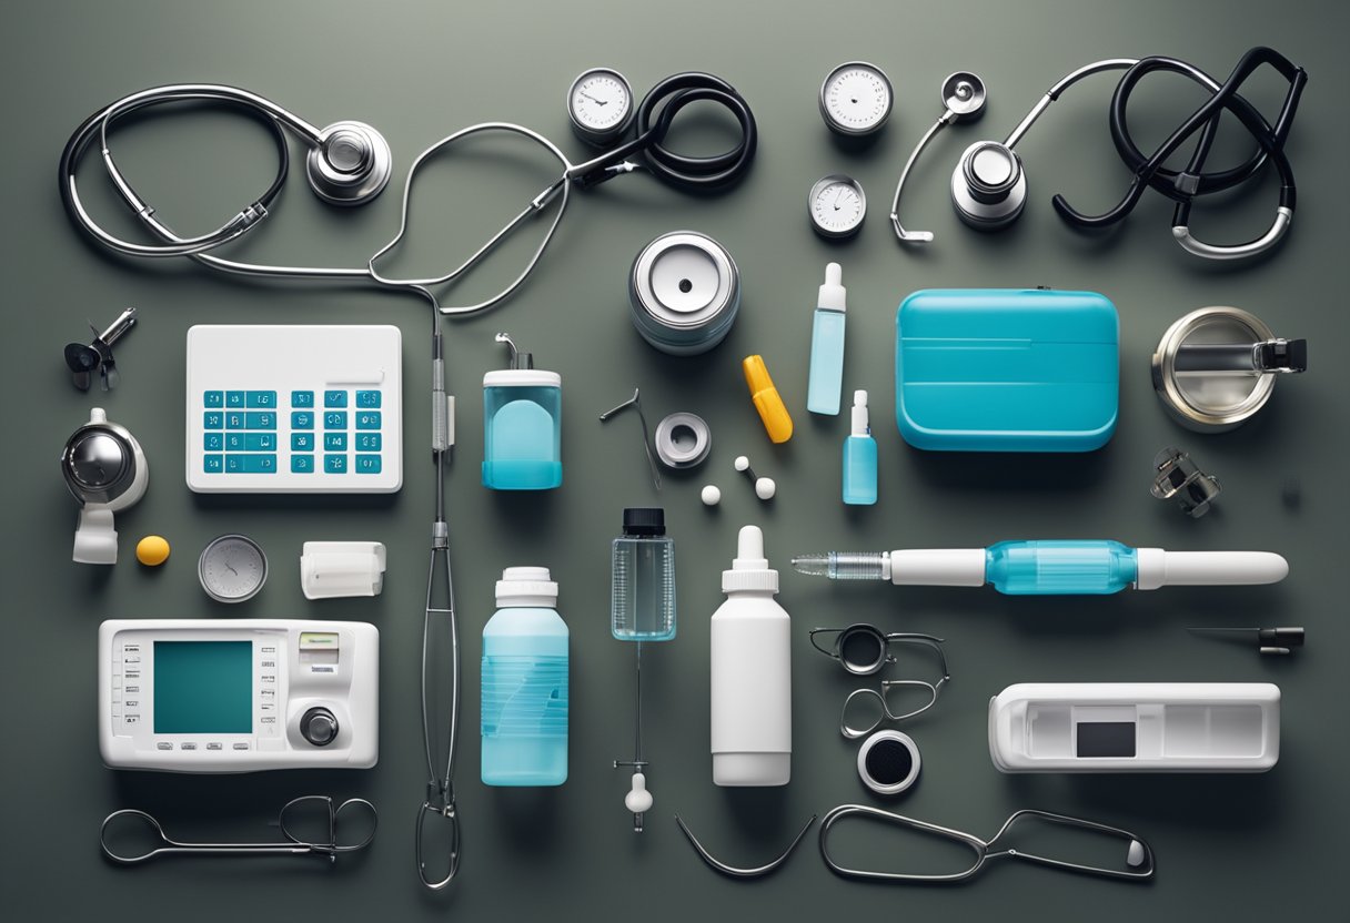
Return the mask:
[[[903, 827], [913, 827], [922, 833], [934, 834], [938, 837], [946, 837], [948, 839], [954, 839], [959, 843], [969, 846], [975, 853], [975, 862], [971, 868], [963, 872], [954, 872], [949, 874], [910, 874], [902, 872], [875, 872], [869, 869], [850, 869], [840, 865], [830, 856], [828, 838], [830, 829], [834, 823], [842, 818], [859, 815], [863, 818], [871, 818], [873, 820], [882, 820], [884, 823], [895, 823]], [[1098, 865], [1084, 865], [1081, 862], [1068, 862], [1065, 860], [1056, 860], [1048, 856], [1037, 856], [1035, 853], [1026, 853], [1011, 846], [996, 847], [999, 839], [1006, 835], [1019, 820], [1035, 822], [1041, 820], [1045, 823], [1062, 824], [1068, 827], [1077, 827], [1081, 830], [1089, 830], [1092, 833], [1099, 833], [1107, 837], [1116, 837], [1126, 841], [1125, 851], [1125, 868], [1111, 869], [1102, 868]], [[1022, 826], [1027, 826], [1023, 823]], [[1081, 872], [1084, 874], [1100, 874], [1107, 878], [1125, 878], [1129, 881], [1142, 881], [1153, 877], [1153, 850], [1149, 845], [1143, 842], [1139, 837], [1134, 835], [1129, 830], [1120, 830], [1119, 827], [1108, 827], [1104, 823], [1095, 823], [1092, 820], [1081, 820], [1079, 818], [1068, 818], [1062, 814], [1050, 814], [1048, 811], [1017, 811], [1010, 816], [999, 831], [994, 834], [988, 841], [980, 839], [968, 833], [961, 833], [960, 830], [952, 830], [949, 827], [940, 827], [936, 823], [927, 823], [925, 820], [915, 820], [914, 818], [907, 818], [902, 814], [892, 814], [890, 811], [882, 811], [873, 807], [865, 807], [863, 804], [841, 804], [821, 820], [821, 858], [825, 860], [825, 865], [830, 868], [832, 872], [840, 874], [845, 878], [867, 878], [871, 881], [933, 881], [933, 883], [948, 883], [948, 881], [965, 881], [973, 877], [976, 872], [984, 868], [984, 864], [990, 860], [996, 858], [1014, 858], [1025, 860], [1027, 862], [1034, 862], [1037, 865], [1048, 865], [1054, 869], [1064, 869], [1066, 872]]]

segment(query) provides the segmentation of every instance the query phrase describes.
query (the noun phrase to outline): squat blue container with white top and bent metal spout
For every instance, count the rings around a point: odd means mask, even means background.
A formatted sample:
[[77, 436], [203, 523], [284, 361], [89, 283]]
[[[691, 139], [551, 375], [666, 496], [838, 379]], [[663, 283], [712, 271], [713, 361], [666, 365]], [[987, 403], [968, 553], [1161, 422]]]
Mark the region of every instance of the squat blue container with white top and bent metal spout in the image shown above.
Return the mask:
[[563, 483], [563, 378], [535, 368], [506, 333], [510, 367], [483, 375], [483, 487], [552, 490]]

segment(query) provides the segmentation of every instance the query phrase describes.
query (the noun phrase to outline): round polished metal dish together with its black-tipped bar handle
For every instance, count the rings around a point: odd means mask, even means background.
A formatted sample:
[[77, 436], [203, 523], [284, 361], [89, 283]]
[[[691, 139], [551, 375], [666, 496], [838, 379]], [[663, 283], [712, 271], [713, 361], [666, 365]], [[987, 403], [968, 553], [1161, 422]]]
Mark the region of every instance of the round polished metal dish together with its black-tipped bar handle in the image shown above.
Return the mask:
[[1188, 429], [1222, 432], [1265, 406], [1276, 378], [1308, 368], [1307, 340], [1285, 340], [1239, 308], [1200, 308], [1153, 352], [1153, 389]]

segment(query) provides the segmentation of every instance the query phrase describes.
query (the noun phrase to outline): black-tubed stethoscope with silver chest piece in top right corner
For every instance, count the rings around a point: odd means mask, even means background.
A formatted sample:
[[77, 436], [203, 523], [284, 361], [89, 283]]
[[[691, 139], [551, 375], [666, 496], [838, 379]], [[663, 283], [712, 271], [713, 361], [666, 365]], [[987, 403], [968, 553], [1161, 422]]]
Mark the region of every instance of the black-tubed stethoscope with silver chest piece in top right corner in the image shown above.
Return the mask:
[[[1289, 81], [1289, 89], [1274, 125], [1268, 123], [1256, 107], [1238, 93], [1247, 77], [1262, 65], [1270, 65]], [[975, 228], [996, 229], [1011, 224], [1022, 213], [1022, 206], [1026, 204], [1026, 173], [1022, 169], [1022, 158], [1013, 148], [1064, 90], [1084, 77], [1106, 70], [1125, 70], [1115, 88], [1115, 94], [1111, 97], [1110, 125], [1115, 150], [1134, 175], [1125, 197], [1102, 215], [1084, 215], [1069, 205], [1064, 196], [1056, 194], [1052, 201], [1060, 217], [1080, 231], [1107, 228], [1125, 220], [1134, 211], [1145, 190], [1152, 188], [1176, 201], [1176, 209], [1172, 213], [1172, 236], [1187, 252], [1207, 259], [1242, 259], [1276, 246], [1293, 219], [1296, 198], [1293, 169], [1284, 154], [1284, 143], [1293, 125], [1299, 97], [1308, 82], [1308, 74], [1278, 51], [1266, 47], [1256, 47], [1242, 55], [1223, 84], [1185, 61], [1165, 57], [1110, 58], [1079, 67], [1052, 86], [1006, 140], [976, 142], [965, 150], [952, 173], [952, 204], [961, 220]], [[1156, 72], [1170, 72], [1189, 77], [1210, 90], [1211, 96], [1153, 154], [1145, 155], [1130, 136], [1125, 111], [1130, 93], [1138, 82], [1146, 74]], [[1210, 155], [1224, 109], [1238, 117], [1258, 147], [1238, 166], [1207, 173], [1204, 162]], [[1165, 167], [1164, 163], [1168, 158], [1196, 132], [1200, 136], [1185, 169], [1170, 170]], [[1191, 208], [1197, 198], [1233, 189], [1251, 179], [1268, 162], [1274, 166], [1280, 175], [1280, 201], [1274, 221], [1264, 235], [1247, 243], [1220, 246], [1199, 240], [1191, 233]]]

